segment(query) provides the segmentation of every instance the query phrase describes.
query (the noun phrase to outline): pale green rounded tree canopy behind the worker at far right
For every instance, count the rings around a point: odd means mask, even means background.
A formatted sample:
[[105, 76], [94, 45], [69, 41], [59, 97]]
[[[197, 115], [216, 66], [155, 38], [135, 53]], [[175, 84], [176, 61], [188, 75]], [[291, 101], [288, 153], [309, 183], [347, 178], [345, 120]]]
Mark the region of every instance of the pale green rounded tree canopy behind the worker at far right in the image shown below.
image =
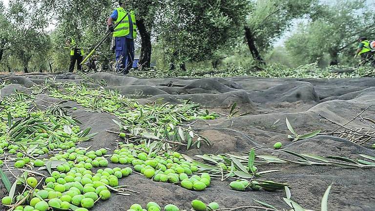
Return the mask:
[[299, 64], [312, 63], [328, 54], [331, 63], [339, 55], [354, 56], [354, 42], [359, 37], [375, 35], [374, 13], [366, 9], [364, 0], [345, 0], [321, 5], [319, 16], [300, 24], [286, 42], [288, 51]]

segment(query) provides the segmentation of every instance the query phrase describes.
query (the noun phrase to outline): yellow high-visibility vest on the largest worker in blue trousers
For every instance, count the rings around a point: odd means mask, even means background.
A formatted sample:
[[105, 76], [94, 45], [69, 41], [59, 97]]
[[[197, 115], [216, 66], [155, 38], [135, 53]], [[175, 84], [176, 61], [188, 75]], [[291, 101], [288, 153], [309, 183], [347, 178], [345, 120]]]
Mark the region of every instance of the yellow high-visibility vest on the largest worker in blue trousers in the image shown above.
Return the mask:
[[[117, 21], [122, 20], [125, 15], [126, 17], [114, 29], [113, 37], [124, 37], [130, 33], [129, 16], [127, 15], [127, 12], [125, 11], [125, 9], [122, 7], [119, 7], [116, 10], [117, 10]], [[136, 25], [136, 20], [135, 20], [135, 14], [134, 14], [134, 11], [130, 11], [129, 14], [130, 14], [131, 21], [133, 22], [133, 31], [131, 33], [133, 33], [133, 38], [135, 39], [137, 37], [137, 31], [136, 31], [137, 25]], [[117, 24], [117, 21], [115, 21], [114, 24]]]

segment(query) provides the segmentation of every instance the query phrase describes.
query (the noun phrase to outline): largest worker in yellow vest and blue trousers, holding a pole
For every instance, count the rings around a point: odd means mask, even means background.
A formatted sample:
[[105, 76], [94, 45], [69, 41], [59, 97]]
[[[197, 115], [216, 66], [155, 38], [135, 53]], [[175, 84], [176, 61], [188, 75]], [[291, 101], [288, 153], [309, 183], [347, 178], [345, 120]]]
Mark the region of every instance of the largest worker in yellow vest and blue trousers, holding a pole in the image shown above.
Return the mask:
[[[119, 4], [120, 7], [116, 8], [108, 18], [107, 25], [108, 30], [113, 32], [116, 70], [118, 73], [126, 75], [133, 66], [134, 39], [137, 37], [137, 25], [131, 6], [125, 0], [120, 0]], [[114, 28], [116, 23], [122, 19], [123, 21]]]

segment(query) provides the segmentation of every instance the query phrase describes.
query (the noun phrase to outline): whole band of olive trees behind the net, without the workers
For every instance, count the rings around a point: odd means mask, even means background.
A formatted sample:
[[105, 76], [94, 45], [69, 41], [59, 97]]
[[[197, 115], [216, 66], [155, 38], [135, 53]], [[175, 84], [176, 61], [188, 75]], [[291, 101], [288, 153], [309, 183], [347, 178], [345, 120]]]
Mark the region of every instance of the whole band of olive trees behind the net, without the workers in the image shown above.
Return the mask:
[[[146, 38], [137, 39], [137, 54], [144, 61], [149, 57], [156, 69], [171, 69], [169, 75], [178, 68], [190, 75], [275, 65], [280, 71], [310, 63], [354, 66], [356, 39], [375, 39], [375, 3], [366, 0], [131, 0], [131, 5]], [[65, 72], [65, 39], [74, 37], [88, 52], [104, 37], [106, 19], [117, 6], [115, 0], [0, 2], [0, 70]], [[275, 45], [281, 38], [285, 43]], [[110, 39], [98, 51], [107, 62], [114, 57], [109, 45]], [[142, 75], [149, 65], [134, 74]]]

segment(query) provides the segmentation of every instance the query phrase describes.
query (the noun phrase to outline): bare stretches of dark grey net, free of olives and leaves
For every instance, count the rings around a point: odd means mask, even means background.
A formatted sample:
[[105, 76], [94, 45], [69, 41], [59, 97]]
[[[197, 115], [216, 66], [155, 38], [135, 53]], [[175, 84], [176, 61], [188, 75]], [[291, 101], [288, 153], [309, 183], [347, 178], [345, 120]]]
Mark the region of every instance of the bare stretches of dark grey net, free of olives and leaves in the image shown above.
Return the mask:
[[[55, 82], [87, 83], [92, 87], [104, 86], [119, 90], [121, 94], [136, 98], [140, 103], [161, 100], [180, 103], [181, 99], [191, 99], [211, 111], [221, 114], [216, 120], [199, 120], [193, 129], [207, 137], [212, 146], [202, 145], [199, 149], [183, 150], [190, 156], [197, 154], [232, 153], [240, 154], [256, 146], [270, 146], [282, 142], [283, 148], [297, 153], [312, 153], [319, 156], [345, 156], [359, 158], [358, 154], [375, 156], [368, 145], [353, 143], [333, 136], [319, 135], [311, 139], [292, 142], [287, 138], [291, 134], [285, 119], [288, 118], [298, 134], [316, 129], [331, 132], [336, 125], [322, 118], [344, 125], [366, 109], [360, 117], [346, 125], [347, 128], [375, 125], [363, 118], [375, 119], [375, 78], [358, 79], [270, 79], [270, 78], [165, 78], [137, 79], [110, 73], [95, 73], [86, 76], [76, 74], [27, 74], [1, 76], [1, 80], [10, 80], [13, 84], [1, 89], [1, 96], [10, 94], [14, 89], [29, 92], [35, 84], [44, 84], [45, 79]], [[54, 82], [49, 82], [54, 83]], [[57, 102], [59, 99], [39, 94], [41, 104]], [[244, 116], [227, 118], [230, 107], [237, 104], [238, 114]], [[68, 102], [76, 105], [75, 102]], [[117, 136], [106, 132], [114, 129], [113, 116], [107, 113], [87, 112], [79, 108], [73, 115], [80, 116], [84, 127], [92, 127], [99, 132], [94, 140], [83, 145], [97, 148], [108, 147]], [[321, 116], [319, 116], [321, 115]], [[369, 144], [375, 140], [369, 140]], [[262, 149], [257, 153], [277, 155], [289, 158], [289, 154], [272, 149]], [[262, 168], [262, 167], [261, 167]], [[333, 184], [329, 196], [331, 211], [374, 211], [375, 210], [375, 169], [347, 169], [327, 166], [269, 165], [265, 169], [281, 169], [269, 173], [265, 179], [288, 182], [292, 198], [306, 209], [320, 210], [320, 201], [327, 187]], [[123, 211], [133, 203], [155, 201], [161, 204], [174, 203], [188, 208], [195, 198], [216, 201], [222, 207], [233, 208], [256, 205], [252, 199], [267, 202], [280, 209], [288, 209], [283, 202], [283, 191], [246, 191], [230, 190], [230, 181], [213, 181], [210, 188], [203, 192], [194, 192], [171, 184], [152, 182], [138, 174], [122, 179], [121, 183], [140, 192], [130, 196], [114, 195], [110, 200], [98, 203], [93, 211]], [[0, 190], [2, 197], [6, 190]], [[251, 209], [249, 209], [251, 210]], [[253, 210], [253, 209], [252, 209]]]

